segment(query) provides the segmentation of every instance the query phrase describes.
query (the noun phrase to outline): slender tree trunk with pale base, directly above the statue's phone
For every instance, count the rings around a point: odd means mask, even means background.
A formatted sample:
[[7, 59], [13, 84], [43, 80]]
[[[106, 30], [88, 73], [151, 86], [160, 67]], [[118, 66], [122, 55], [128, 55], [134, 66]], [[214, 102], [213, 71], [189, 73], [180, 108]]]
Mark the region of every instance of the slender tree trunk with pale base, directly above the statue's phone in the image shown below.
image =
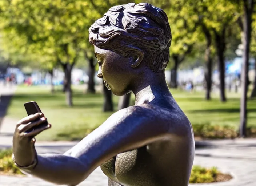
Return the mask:
[[70, 63], [62, 64], [63, 70], [65, 72], [65, 94], [66, 94], [66, 104], [68, 106], [73, 106], [72, 101], [72, 89], [71, 89], [71, 71], [73, 65]]

